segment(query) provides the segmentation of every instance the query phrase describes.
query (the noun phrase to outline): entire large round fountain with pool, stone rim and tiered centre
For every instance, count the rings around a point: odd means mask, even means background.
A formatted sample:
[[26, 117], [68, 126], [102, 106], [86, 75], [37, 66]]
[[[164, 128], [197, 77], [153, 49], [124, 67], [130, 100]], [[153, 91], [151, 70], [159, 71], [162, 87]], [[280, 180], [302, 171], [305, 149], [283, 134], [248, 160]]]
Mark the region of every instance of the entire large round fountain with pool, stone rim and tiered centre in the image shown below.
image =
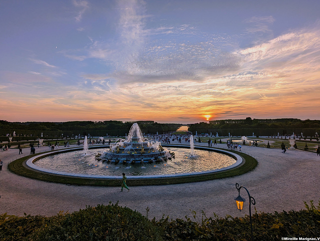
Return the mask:
[[[107, 180], [121, 178], [122, 172], [126, 173], [129, 179], [137, 180], [137, 185], [145, 184], [138, 181], [141, 178], [157, 180], [155, 182], [157, 184], [168, 184], [170, 183], [168, 179], [172, 178], [174, 182], [187, 182], [185, 178], [188, 176], [190, 178], [194, 176], [198, 181], [203, 176], [210, 179], [220, 176], [213, 173], [221, 173], [243, 164], [242, 157], [236, 153], [211, 147], [193, 146], [192, 137], [190, 136], [190, 148], [181, 144], [165, 145], [169, 146], [170, 150], [168, 150], [158, 141], [143, 138], [139, 126], [134, 123], [128, 136], [117, 139], [110, 146], [105, 146], [109, 148], [91, 146], [87, 149], [87, 143], [84, 141], [84, 148], [76, 147], [42, 153], [26, 160], [25, 164], [36, 173], [81, 178], [80, 182], [85, 184], [103, 183], [103, 185], [117, 185], [117, 182]], [[230, 173], [233, 172], [230, 171]], [[194, 178], [190, 180], [194, 181]], [[97, 179], [101, 181], [95, 182], [94, 180]], [[70, 182], [73, 183], [71, 180]], [[79, 179], [74, 182], [78, 183]]]

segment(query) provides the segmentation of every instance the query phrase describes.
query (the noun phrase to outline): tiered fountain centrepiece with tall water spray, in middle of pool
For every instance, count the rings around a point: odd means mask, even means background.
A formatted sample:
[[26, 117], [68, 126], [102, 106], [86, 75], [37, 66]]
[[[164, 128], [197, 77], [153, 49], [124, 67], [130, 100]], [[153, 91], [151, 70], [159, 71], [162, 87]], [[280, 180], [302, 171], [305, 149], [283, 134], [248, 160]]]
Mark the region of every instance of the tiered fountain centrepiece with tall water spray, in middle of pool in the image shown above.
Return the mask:
[[133, 123], [126, 139], [119, 138], [100, 158], [107, 162], [163, 161], [174, 153], [163, 148], [159, 141], [143, 138], [137, 123]]

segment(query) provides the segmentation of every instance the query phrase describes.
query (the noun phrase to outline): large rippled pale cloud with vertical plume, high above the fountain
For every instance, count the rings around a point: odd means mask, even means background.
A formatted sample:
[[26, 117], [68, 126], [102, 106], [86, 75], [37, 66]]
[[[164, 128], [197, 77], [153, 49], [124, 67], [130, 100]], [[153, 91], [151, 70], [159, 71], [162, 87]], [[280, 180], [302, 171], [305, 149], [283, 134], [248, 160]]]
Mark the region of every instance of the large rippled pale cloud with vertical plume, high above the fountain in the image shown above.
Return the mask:
[[[223, 50], [233, 44], [230, 38], [203, 35], [190, 24], [147, 28], [150, 15], [146, 14], [143, 1], [118, 0], [117, 4], [117, 41], [90, 38], [84, 49], [60, 52], [80, 61], [88, 58], [104, 61], [114, 69], [109, 76], [120, 83], [202, 81], [237, 70], [239, 58]], [[192, 43], [177, 40], [184, 35], [197, 40]], [[167, 40], [159, 42], [161, 36]]]

